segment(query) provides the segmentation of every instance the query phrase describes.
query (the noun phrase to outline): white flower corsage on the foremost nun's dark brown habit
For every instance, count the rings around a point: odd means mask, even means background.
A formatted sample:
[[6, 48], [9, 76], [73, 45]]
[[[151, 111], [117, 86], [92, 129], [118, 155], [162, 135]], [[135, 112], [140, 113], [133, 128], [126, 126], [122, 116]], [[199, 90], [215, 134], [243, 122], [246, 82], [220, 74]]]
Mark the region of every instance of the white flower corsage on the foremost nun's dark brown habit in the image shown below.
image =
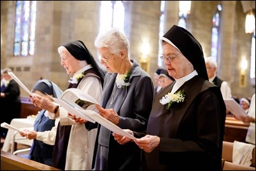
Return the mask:
[[180, 90], [177, 93], [167, 93], [164, 97], [162, 97], [162, 99], [160, 100], [160, 104], [165, 105], [168, 104], [166, 106], [166, 109], [168, 110], [172, 104], [174, 103], [180, 103], [180, 102], [184, 102], [185, 99], [185, 95], [183, 94], [183, 90]]

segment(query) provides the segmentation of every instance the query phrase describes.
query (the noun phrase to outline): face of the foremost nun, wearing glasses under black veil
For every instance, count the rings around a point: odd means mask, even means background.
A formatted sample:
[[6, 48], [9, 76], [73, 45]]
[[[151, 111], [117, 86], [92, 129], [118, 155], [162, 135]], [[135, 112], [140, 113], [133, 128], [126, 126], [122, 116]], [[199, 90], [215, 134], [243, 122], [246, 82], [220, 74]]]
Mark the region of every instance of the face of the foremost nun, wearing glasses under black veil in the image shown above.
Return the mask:
[[163, 43], [162, 50], [163, 56], [165, 57], [164, 65], [166, 66], [169, 76], [172, 76], [174, 79], [179, 79], [194, 71], [194, 67], [188, 59], [171, 44]]

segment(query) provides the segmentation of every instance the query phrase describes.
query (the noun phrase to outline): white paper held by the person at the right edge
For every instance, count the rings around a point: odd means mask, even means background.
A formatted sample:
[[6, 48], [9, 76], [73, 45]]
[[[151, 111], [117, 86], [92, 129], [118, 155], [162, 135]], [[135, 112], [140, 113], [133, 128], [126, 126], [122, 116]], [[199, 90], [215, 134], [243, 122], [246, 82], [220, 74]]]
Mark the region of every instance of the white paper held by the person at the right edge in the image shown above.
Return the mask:
[[241, 116], [247, 116], [243, 108], [234, 99], [224, 99], [224, 102], [227, 109], [231, 111], [231, 113], [234, 114], [236, 118], [240, 118]]

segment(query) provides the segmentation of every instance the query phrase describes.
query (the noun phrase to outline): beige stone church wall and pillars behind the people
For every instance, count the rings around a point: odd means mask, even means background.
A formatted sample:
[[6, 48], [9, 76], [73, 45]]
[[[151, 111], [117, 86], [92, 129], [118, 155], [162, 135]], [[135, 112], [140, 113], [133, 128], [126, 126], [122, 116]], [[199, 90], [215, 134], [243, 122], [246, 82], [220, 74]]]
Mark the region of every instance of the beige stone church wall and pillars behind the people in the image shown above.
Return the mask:
[[[204, 55], [211, 53], [211, 24], [220, 1], [192, 1], [187, 29], [201, 43]], [[250, 66], [251, 34], [245, 34], [245, 13], [240, 1], [221, 1], [222, 21], [218, 76], [231, 85], [232, 95], [250, 97], [255, 87], [247, 72], [246, 87], [239, 87], [241, 57]], [[15, 1], [1, 1], [1, 68], [12, 67], [28, 88], [39, 78], [51, 79], [62, 90], [69, 76], [60, 65], [57, 48], [80, 39], [97, 60], [94, 38], [99, 31], [101, 1], [38, 1], [36, 13], [36, 48], [33, 57], [13, 57]], [[160, 1], [126, 1], [125, 32], [131, 43], [131, 58], [141, 60], [141, 44], [150, 43], [149, 74], [157, 69], [159, 48]], [[166, 1], [166, 31], [178, 24], [178, 1]], [[255, 80], [254, 80], [255, 82]], [[27, 93], [22, 90], [22, 96]]]

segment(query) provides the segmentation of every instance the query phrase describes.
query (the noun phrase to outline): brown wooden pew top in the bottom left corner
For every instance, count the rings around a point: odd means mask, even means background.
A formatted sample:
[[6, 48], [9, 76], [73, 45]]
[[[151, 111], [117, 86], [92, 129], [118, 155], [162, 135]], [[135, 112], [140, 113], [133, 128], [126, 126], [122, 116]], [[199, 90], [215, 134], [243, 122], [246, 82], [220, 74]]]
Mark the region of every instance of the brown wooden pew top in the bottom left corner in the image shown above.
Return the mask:
[[1, 170], [59, 170], [27, 158], [1, 151]]

